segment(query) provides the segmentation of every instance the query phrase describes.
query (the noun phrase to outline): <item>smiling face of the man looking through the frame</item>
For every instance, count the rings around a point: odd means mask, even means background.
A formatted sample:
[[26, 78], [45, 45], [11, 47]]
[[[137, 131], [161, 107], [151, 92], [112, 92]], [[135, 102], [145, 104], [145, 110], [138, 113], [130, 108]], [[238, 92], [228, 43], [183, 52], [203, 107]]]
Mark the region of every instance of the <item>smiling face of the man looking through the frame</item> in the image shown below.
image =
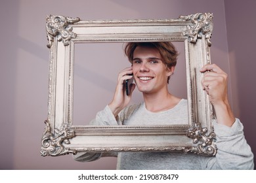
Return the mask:
[[171, 75], [156, 48], [138, 46], [133, 53], [133, 76], [137, 88], [143, 93], [167, 90], [167, 78]]

